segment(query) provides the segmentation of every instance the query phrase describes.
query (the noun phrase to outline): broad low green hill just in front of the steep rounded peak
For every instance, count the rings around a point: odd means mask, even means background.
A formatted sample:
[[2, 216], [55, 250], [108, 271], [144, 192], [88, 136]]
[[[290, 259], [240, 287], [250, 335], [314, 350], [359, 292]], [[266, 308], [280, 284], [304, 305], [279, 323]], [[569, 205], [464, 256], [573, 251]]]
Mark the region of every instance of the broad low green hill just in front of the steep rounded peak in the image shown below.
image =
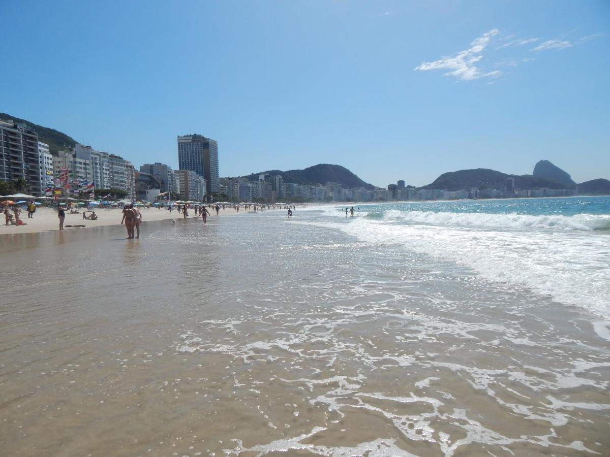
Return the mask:
[[[506, 186], [506, 179], [514, 178], [515, 187], [519, 189], [538, 189], [548, 187], [550, 189], [565, 189], [564, 184], [532, 175], [506, 174], [489, 168], [476, 168], [468, 170], [451, 171], [443, 173], [434, 182], [423, 186], [421, 189], [440, 189], [456, 191], [469, 188], [496, 188]], [[571, 188], [571, 187], [570, 187]]]

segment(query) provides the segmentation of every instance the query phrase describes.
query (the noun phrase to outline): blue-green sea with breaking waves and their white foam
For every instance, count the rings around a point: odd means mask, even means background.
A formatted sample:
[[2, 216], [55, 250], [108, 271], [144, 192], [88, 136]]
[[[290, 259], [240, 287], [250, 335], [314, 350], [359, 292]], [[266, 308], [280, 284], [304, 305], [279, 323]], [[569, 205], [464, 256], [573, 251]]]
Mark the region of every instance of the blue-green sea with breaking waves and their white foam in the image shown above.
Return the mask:
[[[464, 265], [610, 318], [610, 197], [459, 200], [328, 207], [329, 226], [365, 243]], [[334, 217], [333, 217], [334, 216]]]

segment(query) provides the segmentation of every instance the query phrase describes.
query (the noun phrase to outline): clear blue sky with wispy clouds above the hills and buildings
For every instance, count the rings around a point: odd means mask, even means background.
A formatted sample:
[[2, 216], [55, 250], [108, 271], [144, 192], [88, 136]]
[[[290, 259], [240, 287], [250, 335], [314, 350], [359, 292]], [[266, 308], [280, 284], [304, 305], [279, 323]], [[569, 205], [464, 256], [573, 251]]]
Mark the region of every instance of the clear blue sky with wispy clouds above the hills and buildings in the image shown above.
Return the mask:
[[136, 168], [610, 179], [610, 2], [0, 0], [0, 112]]

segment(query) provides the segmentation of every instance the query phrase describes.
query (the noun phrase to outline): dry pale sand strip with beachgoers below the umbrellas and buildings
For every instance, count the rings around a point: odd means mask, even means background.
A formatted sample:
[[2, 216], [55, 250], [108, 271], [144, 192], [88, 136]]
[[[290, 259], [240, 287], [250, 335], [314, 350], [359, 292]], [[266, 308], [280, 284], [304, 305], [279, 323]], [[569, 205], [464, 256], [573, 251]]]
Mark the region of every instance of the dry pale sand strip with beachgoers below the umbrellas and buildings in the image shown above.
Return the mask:
[[[68, 230], [84, 230], [91, 227], [101, 227], [102, 225], [121, 225], [121, 219], [123, 213], [120, 208], [103, 209], [99, 208], [95, 211], [98, 215], [96, 221], [90, 221], [82, 219], [82, 210], [77, 214], [70, 214], [70, 211], [66, 211], [66, 219], [63, 223], [65, 231]], [[212, 216], [216, 217], [215, 211], [211, 207], [208, 207], [208, 211]], [[91, 211], [85, 211], [87, 216], [91, 214]], [[220, 216], [236, 216], [237, 214], [244, 214], [247, 211], [240, 208], [239, 213], [233, 208], [220, 209]], [[140, 208], [142, 213], [142, 223], [146, 224], [149, 221], [163, 221], [164, 219], [182, 219], [182, 214], [174, 208], [173, 211], [165, 209], [157, 210], [157, 208]], [[194, 210], [189, 210], [190, 217], [193, 219]], [[34, 218], [27, 218], [27, 211], [21, 211], [20, 219], [25, 222], [26, 225], [4, 225], [4, 216], [1, 218], [0, 235], [13, 235], [15, 233], [39, 233], [39, 232], [53, 232], [59, 230], [59, 219], [57, 218], [57, 211], [51, 208], [38, 208], [34, 213]], [[67, 225], [85, 225], [84, 228], [66, 227]]]

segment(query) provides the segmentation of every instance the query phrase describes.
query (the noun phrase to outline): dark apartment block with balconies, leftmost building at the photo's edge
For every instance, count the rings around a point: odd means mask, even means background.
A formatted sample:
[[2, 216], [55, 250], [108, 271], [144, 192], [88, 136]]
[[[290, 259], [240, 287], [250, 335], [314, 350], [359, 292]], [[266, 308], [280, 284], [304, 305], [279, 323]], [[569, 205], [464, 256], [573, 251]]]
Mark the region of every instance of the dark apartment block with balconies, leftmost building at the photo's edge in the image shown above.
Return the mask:
[[25, 124], [0, 121], [0, 180], [24, 179], [29, 193], [41, 195], [38, 133]]

